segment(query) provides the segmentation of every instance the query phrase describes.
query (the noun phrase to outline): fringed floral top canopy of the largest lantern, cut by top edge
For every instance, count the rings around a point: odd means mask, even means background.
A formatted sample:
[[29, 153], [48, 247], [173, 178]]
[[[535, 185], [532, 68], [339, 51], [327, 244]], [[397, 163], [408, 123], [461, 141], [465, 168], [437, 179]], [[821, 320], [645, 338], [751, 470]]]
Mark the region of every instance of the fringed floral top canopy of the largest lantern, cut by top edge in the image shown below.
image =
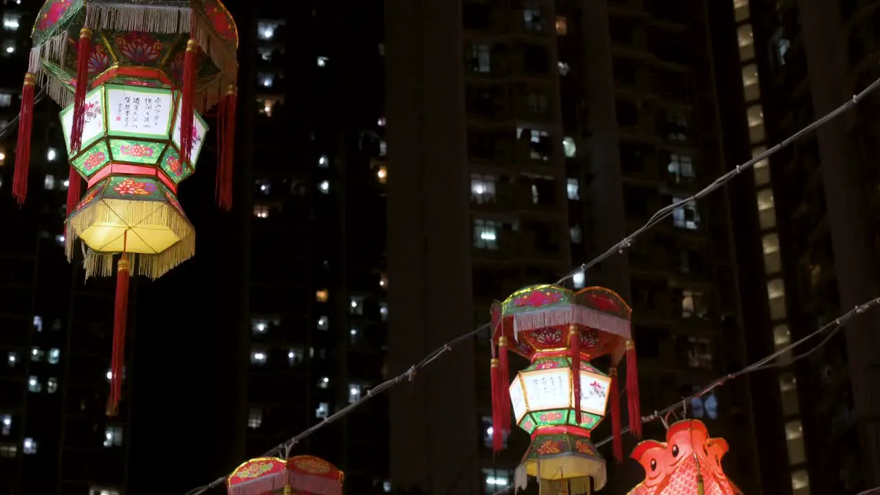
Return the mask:
[[88, 89], [108, 81], [180, 88], [190, 38], [198, 45], [194, 91], [208, 107], [238, 78], [238, 28], [220, 0], [47, 0], [31, 37], [31, 71], [62, 107], [82, 84], [82, 37], [90, 40], [83, 54]]

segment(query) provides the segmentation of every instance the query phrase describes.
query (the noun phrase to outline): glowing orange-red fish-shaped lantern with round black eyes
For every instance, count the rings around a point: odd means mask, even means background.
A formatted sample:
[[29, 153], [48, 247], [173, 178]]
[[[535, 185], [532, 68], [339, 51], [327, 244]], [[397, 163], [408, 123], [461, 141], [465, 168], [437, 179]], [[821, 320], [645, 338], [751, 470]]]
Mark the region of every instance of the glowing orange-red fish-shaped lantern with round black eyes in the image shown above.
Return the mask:
[[634, 448], [645, 481], [628, 495], [743, 495], [722, 469], [728, 448], [726, 440], [710, 439], [701, 421], [679, 421], [665, 442], [645, 440]]

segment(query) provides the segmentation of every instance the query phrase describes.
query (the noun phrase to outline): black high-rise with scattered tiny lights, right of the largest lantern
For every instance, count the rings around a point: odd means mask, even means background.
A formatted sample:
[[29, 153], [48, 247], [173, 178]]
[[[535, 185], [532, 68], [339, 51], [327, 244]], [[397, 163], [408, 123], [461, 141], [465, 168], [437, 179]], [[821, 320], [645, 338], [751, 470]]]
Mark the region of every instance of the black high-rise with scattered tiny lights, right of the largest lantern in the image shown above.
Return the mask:
[[[385, 380], [382, 5], [263, 4], [255, 48], [247, 450], [262, 454]], [[244, 78], [245, 76], [243, 76]], [[385, 489], [387, 397], [294, 447]]]

